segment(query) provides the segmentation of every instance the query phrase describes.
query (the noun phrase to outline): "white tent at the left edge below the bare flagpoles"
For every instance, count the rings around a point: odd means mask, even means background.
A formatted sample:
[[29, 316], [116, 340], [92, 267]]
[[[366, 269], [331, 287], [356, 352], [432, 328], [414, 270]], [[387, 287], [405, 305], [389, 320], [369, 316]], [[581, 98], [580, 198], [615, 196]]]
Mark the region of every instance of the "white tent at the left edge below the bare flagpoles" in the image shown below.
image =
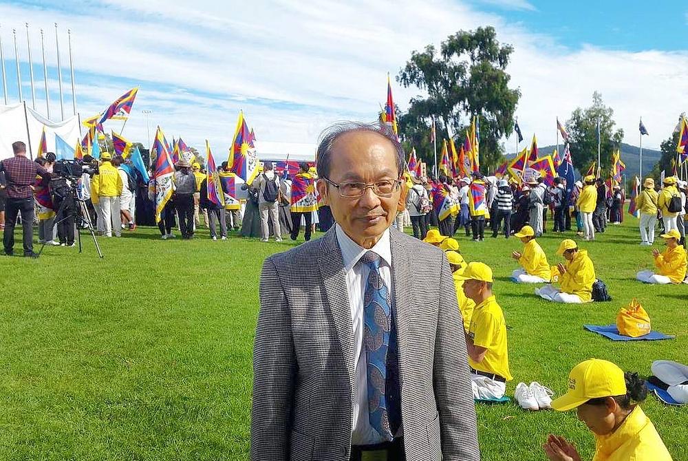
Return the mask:
[[14, 156], [12, 152], [14, 141], [25, 142], [27, 151], [31, 150], [29, 158], [34, 158], [39, 149], [43, 127], [45, 127], [47, 150], [52, 152], [55, 151], [56, 134], [70, 146], [76, 146], [81, 136], [77, 116], [67, 118], [62, 122], [53, 122], [30, 107], [25, 107], [23, 103], [10, 106], [0, 105], [0, 160]]

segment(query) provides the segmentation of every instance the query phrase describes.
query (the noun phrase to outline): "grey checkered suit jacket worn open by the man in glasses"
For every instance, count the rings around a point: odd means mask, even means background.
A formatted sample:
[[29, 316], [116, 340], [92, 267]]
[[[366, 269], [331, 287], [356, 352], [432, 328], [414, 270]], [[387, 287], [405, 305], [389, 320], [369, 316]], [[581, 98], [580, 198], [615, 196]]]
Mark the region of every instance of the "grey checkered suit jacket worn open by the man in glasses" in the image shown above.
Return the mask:
[[[390, 233], [407, 460], [479, 460], [449, 263], [438, 248]], [[260, 304], [251, 460], [349, 460], [356, 358], [334, 227], [266, 259]]]

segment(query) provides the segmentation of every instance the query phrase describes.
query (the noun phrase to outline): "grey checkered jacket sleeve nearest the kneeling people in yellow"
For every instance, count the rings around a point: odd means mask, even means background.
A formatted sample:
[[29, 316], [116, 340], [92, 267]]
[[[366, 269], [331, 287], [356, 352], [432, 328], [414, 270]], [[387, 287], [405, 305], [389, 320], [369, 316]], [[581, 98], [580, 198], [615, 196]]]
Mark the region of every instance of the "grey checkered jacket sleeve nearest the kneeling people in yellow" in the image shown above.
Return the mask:
[[449, 262], [442, 257], [433, 385], [440, 419], [442, 459], [480, 460], [473, 387], [464, 327]]

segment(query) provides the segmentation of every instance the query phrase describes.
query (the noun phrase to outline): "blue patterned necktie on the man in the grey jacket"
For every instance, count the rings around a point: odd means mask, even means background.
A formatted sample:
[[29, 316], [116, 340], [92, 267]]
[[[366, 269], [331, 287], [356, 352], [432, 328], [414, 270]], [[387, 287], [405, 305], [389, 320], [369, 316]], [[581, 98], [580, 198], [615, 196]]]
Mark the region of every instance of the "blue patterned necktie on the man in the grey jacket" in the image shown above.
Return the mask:
[[[370, 272], [365, 284], [365, 294], [363, 295], [363, 319], [365, 328], [363, 329], [363, 345], [365, 347], [366, 358], [366, 377], [368, 381], [368, 411], [370, 425], [378, 431], [385, 440], [392, 440], [394, 432], [398, 429], [395, 424], [398, 415], [398, 392], [390, 396], [390, 390], [398, 391], [398, 380], [390, 383], [389, 378], [396, 378], [394, 366], [388, 369], [391, 357], [396, 358], [396, 335], [392, 330], [391, 299], [389, 288], [385, 280], [380, 275], [380, 257], [368, 251], [361, 257], [361, 262], [368, 266]], [[391, 341], [390, 341], [391, 340]], [[392, 348], [390, 347], [390, 342]], [[390, 350], [392, 349], [392, 350]], [[388, 354], [388, 350], [390, 354]], [[396, 365], [396, 361], [394, 361]], [[395, 389], [388, 389], [393, 387]], [[390, 397], [395, 400], [391, 404], [394, 409], [389, 408]], [[394, 416], [390, 417], [390, 413]], [[392, 425], [390, 425], [392, 420]]]

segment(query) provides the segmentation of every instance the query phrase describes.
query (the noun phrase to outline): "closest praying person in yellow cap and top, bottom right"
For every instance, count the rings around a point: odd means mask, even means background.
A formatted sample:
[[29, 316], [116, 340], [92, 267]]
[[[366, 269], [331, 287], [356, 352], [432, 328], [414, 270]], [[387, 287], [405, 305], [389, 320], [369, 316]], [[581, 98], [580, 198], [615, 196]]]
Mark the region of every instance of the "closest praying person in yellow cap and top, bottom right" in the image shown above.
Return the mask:
[[[637, 373], [624, 373], [614, 363], [592, 358], [568, 375], [568, 392], [552, 400], [558, 411], [576, 409], [578, 419], [595, 437], [592, 461], [671, 461], [652, 421], [638, 405], [647, 396]], [[551, 461], [580, 461], [566, 438], [550, 434], [542, 446]]]

